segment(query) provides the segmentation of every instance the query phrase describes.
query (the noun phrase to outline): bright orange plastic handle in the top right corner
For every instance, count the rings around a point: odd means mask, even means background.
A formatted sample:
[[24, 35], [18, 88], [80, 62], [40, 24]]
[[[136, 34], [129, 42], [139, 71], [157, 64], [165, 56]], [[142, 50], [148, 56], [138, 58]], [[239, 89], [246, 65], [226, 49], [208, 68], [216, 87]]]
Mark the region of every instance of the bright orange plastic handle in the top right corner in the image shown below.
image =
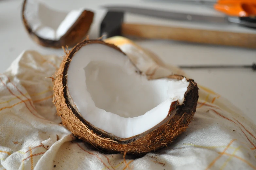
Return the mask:
[[256, 0], [218, 0], [214, 9], [235, 17], [255, 17]]

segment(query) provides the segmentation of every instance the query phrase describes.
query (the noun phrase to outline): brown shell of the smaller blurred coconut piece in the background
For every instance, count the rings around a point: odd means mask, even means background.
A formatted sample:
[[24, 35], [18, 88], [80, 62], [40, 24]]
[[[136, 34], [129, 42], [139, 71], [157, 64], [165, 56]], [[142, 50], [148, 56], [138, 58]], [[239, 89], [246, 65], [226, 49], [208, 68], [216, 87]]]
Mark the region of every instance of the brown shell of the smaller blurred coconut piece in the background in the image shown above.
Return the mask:
[[70, 46], [73, 47], [80, 41], [84, 39], [84, 37], [87, 35], [90, 26], [93, 22], [94, 18], [94, 12], [84, 10], [80, 17], [77, 19], [77, 21], [73, 24], [72, 27], [69, 28], [69, 30], [60, 37], [59, 40], [49, 40], [44, 39], [38, 35], [36, 35], [30, 25], [28, 24], [24, 11], [26, 8], [26, 2], [27, 0], [24, 0], [23, 7], [22, 7], [22, 21], [25, 26], [26, 31], [37, 44], [44, 46], [44, 47], [51, 47], [51, 48], [61, 48], [62, 46]]

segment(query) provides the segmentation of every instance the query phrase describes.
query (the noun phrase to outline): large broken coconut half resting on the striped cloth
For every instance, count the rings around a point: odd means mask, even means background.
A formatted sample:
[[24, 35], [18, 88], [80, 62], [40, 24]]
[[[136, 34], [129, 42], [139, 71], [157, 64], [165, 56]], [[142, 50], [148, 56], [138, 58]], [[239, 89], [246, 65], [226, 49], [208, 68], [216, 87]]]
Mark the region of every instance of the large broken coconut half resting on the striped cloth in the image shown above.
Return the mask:
[[97, 149], [136, 155], [166, 147], [186, 130], [198, 87], [179, 75], [152, 78], [113, 44], [84, 40], [54, 79], [63, 125]]

